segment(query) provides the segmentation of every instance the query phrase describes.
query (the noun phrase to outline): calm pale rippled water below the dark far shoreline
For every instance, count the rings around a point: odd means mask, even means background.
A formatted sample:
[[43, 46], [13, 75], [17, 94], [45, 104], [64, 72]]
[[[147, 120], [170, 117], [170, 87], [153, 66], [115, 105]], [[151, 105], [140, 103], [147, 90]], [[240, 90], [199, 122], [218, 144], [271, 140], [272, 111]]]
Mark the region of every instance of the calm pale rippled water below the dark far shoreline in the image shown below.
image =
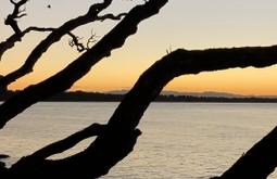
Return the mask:
[[[105, 123], [116, 105], [38, 103], [0, 131], [0, 153], [11, 155], [11, 164], [91, 123]], [[153, 103], [140, 123], [143, 133], [135, 151], [103, 178], [207, 179], [227, 169], [276, 124], [277, 104]], [[91, 140], [54, 157], [76, 153]]]

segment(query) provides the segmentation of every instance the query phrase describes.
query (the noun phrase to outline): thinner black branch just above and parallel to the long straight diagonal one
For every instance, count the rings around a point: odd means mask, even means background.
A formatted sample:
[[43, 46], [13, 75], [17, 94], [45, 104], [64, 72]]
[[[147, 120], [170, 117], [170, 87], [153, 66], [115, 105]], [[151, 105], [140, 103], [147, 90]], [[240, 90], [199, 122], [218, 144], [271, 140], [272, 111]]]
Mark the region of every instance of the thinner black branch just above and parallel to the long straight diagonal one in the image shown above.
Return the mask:
[[68, 34], [78, 26], [98, 21], [98, 14], [106, 9], [112, 3], [112, 0], [104, 0], [102, 3], [96, 3], [90, 7], [87, 14], [71, 20], [61, 27], [53, 30], [45, 40], [42, 40], [29, 54], [25, 63], [16, 71], [8, 74], [0, 79], [0, 88], [5, 89], [11, 82], [33, 72], [33, 67], [39, 57], [52, 46], [58, 42], [64, 35]]

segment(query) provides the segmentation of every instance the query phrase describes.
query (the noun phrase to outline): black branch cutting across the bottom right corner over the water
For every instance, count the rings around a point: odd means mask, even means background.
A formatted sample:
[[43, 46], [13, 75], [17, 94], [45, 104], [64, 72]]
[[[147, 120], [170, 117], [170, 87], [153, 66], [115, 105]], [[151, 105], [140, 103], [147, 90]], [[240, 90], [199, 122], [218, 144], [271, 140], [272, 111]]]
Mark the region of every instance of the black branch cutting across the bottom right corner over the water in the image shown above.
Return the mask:
[[218, 179], [266, 179], [277, 166], [277, 127], [243, 154]]

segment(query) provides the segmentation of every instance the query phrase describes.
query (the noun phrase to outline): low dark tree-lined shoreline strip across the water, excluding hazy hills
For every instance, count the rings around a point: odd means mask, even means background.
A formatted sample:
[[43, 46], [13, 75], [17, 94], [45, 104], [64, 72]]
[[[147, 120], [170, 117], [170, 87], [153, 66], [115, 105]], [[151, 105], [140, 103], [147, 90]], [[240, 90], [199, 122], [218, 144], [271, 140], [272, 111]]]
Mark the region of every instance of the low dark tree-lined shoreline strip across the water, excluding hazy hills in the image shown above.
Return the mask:
[[[18, 91], [8, 91], [2, 93], [0, 94], [0, 101], [5, 101], [17, 92]], [[123, 100], [124, 95], [125, 94], [75, 91], [55, 94], [48, 100], [45, 100], [45, 102], [119, 102]], [[277, 103], [277, 98], [225, 98], [161, 94], [155, 102]]]

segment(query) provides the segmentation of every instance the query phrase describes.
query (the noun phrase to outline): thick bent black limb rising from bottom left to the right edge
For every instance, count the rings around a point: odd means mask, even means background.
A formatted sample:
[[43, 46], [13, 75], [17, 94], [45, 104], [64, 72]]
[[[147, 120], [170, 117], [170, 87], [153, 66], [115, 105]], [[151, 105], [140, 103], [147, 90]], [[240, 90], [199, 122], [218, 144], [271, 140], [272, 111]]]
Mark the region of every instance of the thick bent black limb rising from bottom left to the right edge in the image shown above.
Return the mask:
[[[58, 161], [23, 159], [14, 165], [12, 170], [20, 170], [20, 175], [26, 177], [30, 174], [33, 176], [47, 174], [46, 178], [100, 177], [131, 152], [140, 135], [136, 127], [141, 116], [151, 101], [173, 78], [201, 72], [248, 66], [265, 67], [273, 64], [277, 64], [276, 46], [203, 51], [176, 50], [154, 63], [140, 76], [110, 118], [105, 130], [87, 150]], [[276, 151], [275, 146], [273, 151]]]

